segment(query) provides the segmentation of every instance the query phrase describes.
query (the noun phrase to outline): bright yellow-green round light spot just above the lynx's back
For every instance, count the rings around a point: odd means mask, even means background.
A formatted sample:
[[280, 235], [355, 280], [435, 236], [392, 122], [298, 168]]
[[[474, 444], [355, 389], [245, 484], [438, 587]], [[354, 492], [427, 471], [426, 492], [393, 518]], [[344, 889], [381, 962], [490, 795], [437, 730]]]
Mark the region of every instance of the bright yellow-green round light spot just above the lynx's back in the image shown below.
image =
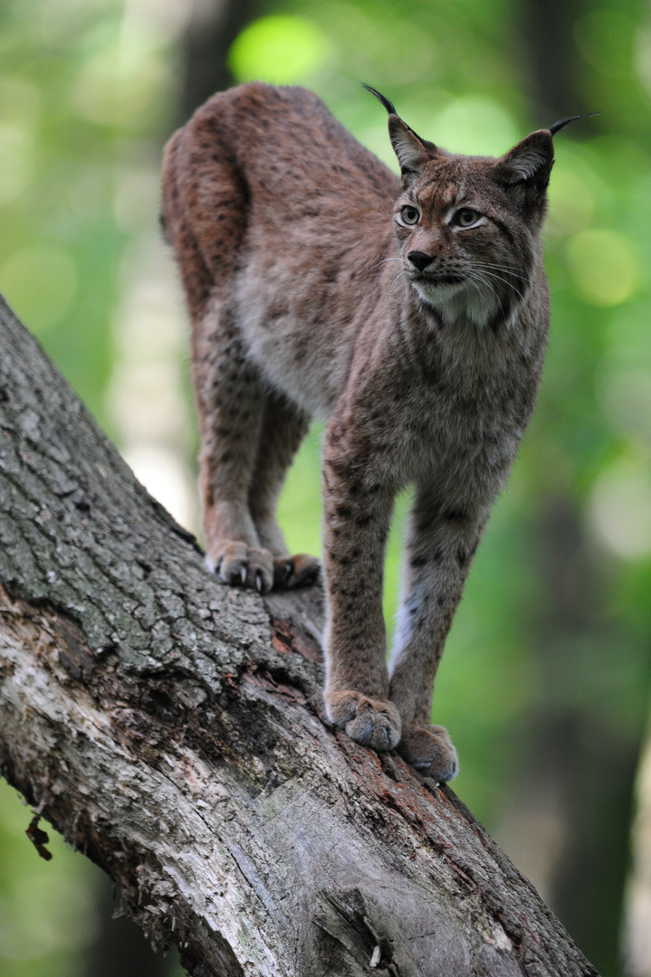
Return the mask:
[[231, 47], [228, 64], [238, 81], [290, 85], [322, 68], [329, 55], [329, 41], [316, 24], [279, 14], [245, 27]]

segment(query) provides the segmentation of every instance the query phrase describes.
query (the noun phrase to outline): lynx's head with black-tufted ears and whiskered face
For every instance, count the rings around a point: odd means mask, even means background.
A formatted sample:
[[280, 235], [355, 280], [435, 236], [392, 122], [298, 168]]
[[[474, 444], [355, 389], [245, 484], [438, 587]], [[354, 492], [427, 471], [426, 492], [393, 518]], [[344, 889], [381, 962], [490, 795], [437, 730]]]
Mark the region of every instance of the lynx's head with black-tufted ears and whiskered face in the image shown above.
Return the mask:
[[443, 319], [497, 327], [530, 293], [552, 136], [573, 119], [533, 132], [499, 159], [463, 156], [421, 139], [388, 99], [369, 91], [389, 112], [400, 163], [393, 217], [406, 276]]

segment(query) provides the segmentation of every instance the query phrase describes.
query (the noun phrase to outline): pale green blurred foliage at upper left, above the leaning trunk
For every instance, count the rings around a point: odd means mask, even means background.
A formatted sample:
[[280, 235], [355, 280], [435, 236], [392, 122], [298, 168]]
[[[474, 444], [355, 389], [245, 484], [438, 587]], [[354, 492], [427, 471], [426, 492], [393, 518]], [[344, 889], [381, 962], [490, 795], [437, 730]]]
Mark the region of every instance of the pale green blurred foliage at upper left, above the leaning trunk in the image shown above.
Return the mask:
[[170, 92], [169, 37], [120, 0], [0, 6], [0, 290], [104, 421], [117, 177], [158, 155]]

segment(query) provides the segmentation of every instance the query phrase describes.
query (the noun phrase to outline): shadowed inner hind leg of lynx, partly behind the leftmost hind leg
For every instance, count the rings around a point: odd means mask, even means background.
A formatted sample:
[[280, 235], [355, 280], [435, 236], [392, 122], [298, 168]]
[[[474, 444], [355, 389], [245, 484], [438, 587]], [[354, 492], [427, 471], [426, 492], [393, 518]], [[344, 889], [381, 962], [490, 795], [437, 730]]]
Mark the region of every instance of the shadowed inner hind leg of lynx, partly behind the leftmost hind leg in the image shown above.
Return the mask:
[[248, 505], [260, 545], [274, 557], [274, 586], [279, 589], [312, 583], [320, 572], [316, 557], [289, 555], [276, 518], [282, 483], [309, 426], [309, 417], [281, 394], [265, 394]]

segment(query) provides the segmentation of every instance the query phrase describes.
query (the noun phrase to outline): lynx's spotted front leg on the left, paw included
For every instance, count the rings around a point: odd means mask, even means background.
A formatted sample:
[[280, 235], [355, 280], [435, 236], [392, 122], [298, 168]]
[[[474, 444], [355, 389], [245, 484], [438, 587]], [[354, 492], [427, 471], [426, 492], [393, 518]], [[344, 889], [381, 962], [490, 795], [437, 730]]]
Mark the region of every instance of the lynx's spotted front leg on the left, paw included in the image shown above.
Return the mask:
[[352, 740], [392, 749], [401, 720], [389, 701], [382, 578], [393, 495], [370, 466], [345, 460], [332, 430], [324, 464], [325, 708]]

